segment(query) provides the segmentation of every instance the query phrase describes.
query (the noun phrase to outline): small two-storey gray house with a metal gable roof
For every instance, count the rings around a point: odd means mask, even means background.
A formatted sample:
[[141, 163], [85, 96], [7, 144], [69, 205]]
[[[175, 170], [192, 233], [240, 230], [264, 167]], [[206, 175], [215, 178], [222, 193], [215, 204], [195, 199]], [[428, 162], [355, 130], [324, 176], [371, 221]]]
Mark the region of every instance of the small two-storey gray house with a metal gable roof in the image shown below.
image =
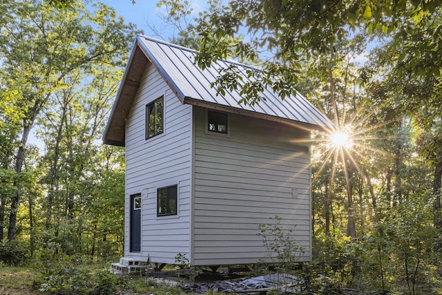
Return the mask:
[[310, 260], [309, 144], [299, 142], [332, 123], [301, 95], [265, 91], [255, 106], [216, 95], [210, 84], [232, 62], [194, 61], [194, 50], [135, 40], [103, 137], [126, 147], [124, 256], [257, 263], [267, 256], [259, 225], [280, 216]]

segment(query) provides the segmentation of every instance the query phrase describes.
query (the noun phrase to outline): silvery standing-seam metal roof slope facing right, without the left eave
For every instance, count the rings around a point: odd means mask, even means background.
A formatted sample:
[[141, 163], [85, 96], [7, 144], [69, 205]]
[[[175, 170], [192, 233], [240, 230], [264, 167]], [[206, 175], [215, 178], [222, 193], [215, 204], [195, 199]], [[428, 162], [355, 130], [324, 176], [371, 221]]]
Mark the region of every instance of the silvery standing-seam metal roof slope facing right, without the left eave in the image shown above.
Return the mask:
[[[137, 40], [140, 41], [144, 50], [151, 55], [162, 74], [169, 78], [169, 82], [173, 84], [182, 100], [186, 98], [197, 99], [202, 102], [240, 108], [296, 122], [334, 128], [334, 124], [299, 93], [286, 96], [282, 100], [278, 93], [266, 89], [262, 93], [266, 100], [261, 100], [259, 104], [251, 106], [249, 104], [238, 104], [242, 98], [238, 91], [226, 90], [225, 95], [216, 95], [216, 89], [210, 86], [220, 75], [220, 68], [226, 68], [234, 64], [238, 67], [240, 73], [244, 73], [243, 80], [247, 81], [250, 79], [247, 77], [246, 70], [253, 67], [233, 61], [218, 60], [210, 68], [201, 70], [195, 64], [195, 50], [142, 35], [138, 35]], [[259, 70], [258, 68], [254, 69]]]

